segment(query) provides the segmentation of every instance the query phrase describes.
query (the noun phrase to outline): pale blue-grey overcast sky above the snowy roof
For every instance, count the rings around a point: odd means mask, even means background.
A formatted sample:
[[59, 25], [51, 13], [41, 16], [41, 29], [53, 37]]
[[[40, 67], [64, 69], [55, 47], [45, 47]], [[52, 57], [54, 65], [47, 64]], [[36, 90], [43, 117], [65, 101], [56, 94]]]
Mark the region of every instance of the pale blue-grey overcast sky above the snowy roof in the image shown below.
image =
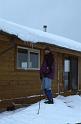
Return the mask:
[[0, 0], [0, 18], [81, 41], [81, 0]]

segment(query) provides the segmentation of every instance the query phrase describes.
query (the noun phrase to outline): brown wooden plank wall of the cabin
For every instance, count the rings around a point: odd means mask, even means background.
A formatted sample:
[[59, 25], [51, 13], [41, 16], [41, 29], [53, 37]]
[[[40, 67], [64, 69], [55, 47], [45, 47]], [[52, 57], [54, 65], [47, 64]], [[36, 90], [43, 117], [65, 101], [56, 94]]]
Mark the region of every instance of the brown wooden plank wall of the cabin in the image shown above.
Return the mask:
[[[13, 42], [18, 39], [11, 38], [11, 36], [0, 35], [0, 99], [13, 99], [19, 97], [27, 97], [32, 95], [39, 95], [41, 91], [41, 81], [39, 71], [37, 70], [19, 70], [16, 69], [16, 54], [17, 48], [13, 46]], [[18, 45], [23, 45], [18, 40]], [[45, 47], [45, 46], [44, 46]], [[44, 57], [44, 47], [40, 47], [40, 56], [42, 64]], [[37, 48], [37, 47], [35, 47]], [[53, 93], [58, 92], [58, 78], [59, 78], [59, 90], [63, 91], [63, 53], [59, 52], [59, 49], [51, 50], [55, 58], [55, 77], [53, 80]], [[38, 49], [38, 48], [37, 48]], [[5, 51], [5, 52], [4, 52]], [[63, 50], [62, 50], [63, 52]], [[66, 54], [66, 53], [65, 53]], [[79, 53], [80, 55], [80, 53]], [[80, 58], [81, 59], [81, 58]], [[79, 67], [81, 61], [79, 62]], [[59, 77], [58, 77], [59, 71]], [[80, 77], [80, 68], [79, 68]], [[79, 79], [80, 80], [80, 79]], [[81, 85], [80, 85], [81, 88]]]

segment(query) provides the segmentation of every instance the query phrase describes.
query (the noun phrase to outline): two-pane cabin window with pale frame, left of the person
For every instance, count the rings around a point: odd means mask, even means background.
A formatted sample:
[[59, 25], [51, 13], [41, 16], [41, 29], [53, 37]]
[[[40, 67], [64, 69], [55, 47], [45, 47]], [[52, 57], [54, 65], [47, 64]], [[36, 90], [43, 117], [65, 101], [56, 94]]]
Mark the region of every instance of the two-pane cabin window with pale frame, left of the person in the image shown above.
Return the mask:
[[17, 69], [39, 69], [40, 51], [30, 48], [17, 48]]

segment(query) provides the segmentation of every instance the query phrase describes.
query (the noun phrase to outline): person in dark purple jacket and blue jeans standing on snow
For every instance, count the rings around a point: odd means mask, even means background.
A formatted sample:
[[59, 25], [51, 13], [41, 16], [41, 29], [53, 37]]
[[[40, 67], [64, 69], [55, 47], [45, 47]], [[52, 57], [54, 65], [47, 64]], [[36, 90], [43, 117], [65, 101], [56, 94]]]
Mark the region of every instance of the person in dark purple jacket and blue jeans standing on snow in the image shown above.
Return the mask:
[[54, 79], [54, 58], [53, 54], [48, 47], [45, 48], [45, 55], [42, 66], [40, 68], [40, 79], [42, 81], [42, 90], [44, 91], [45, 96], [48, 101], [45, 103], [53, 104], [52, 97], [52, 80]]

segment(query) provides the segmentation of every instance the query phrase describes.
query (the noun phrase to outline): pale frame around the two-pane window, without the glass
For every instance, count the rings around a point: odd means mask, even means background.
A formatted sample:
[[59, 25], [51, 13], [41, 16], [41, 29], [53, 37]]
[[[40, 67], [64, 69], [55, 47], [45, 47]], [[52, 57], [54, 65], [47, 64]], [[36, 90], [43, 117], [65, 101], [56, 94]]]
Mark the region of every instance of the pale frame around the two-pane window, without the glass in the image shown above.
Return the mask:
[[[18, 62], [18, 49], [26, 49], [28, 51], [28, 68], [19, 68], [17, 66], [17, 62]], [[38, 68], [30, 68], [29, 67], [29, 63], [30, 63], [30, 53], [38, 53]], [[34, 48], [28, 48], [28, 47], [22, 47], [22, 46], [17, 46], [17, 53], [16, 53], [17, 57], [16, 57], [16, 69], [18, 70], [40, 70], [40, 50], [38, 49], [34, 49]]]

